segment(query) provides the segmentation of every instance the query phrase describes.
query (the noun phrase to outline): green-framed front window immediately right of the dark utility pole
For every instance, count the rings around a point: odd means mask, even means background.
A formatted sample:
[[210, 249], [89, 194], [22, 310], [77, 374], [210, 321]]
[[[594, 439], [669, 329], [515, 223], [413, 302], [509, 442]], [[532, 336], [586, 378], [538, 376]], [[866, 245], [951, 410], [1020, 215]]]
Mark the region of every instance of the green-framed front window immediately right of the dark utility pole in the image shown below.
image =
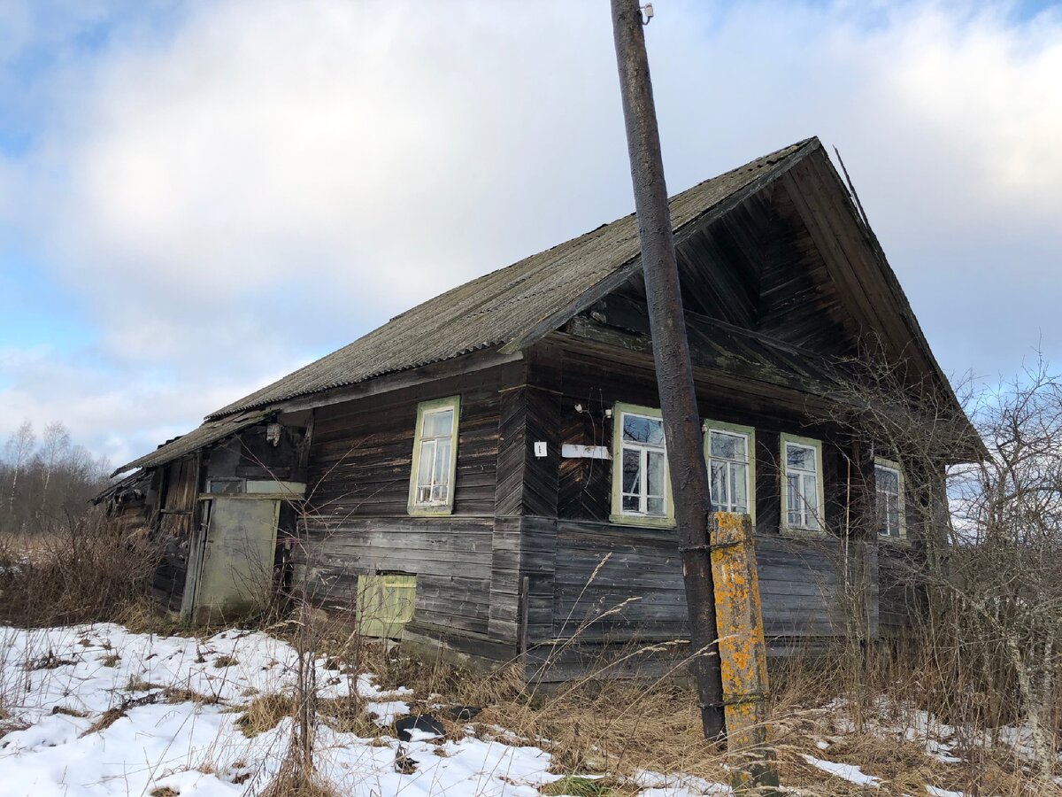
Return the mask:
[[756, 433], [749, 426], [707, 421], [704, 458], [713, 512], [756, 515]]

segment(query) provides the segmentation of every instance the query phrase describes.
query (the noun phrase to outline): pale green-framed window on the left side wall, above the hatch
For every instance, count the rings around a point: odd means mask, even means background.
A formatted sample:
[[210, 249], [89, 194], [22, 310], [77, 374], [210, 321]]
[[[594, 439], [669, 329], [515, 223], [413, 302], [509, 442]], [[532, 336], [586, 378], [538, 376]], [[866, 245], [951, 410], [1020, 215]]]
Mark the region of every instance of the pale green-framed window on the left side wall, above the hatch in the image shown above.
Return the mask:
[[410, 514], [449, 514], [458, 461], [459, 396], [425, 402], [416, 408]]

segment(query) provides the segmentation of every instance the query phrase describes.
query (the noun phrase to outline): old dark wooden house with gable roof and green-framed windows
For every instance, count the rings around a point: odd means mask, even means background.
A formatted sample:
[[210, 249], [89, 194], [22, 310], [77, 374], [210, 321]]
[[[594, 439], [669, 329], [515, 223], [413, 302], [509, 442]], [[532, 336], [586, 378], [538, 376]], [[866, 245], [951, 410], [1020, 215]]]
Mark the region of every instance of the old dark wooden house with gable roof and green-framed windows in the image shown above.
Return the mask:
[[[904, 474], [830, 425], [829, 362], [873, 337], [954, 402], [900, 284], [818, 139], [670, 207], [712, 501], [753, 519], [771, 649], [844, 631], [853, 463], [887, 507], [860, 550], [870, 632], [889, 633]], [[632, 215], [222, 407], [100, 501], [165, 547], [155, 588], [194, 622], [295, 590], [366, 633], [529, 673], [578, 633], [539, 673], [563, 679], [602, 645], [685, 633], [657, 407]]]

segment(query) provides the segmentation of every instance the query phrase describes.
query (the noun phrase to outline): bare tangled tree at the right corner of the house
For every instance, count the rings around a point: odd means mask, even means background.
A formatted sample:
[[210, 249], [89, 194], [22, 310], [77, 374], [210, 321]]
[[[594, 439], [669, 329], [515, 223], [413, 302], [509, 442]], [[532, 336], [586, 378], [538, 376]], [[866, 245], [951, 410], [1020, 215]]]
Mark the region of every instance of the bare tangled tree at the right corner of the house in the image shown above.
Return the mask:
[[[967, 383], [967, 422], [939, 384], [875, 352], [837, 374], [828, 420], [905, 475], [907, 544], [889, 559], [927, 708], [982, 728], [1020, 723], [1047, 782], [1062, 706], [1062, 380], [1038, 361], [992, 388]], [[873, 543], [881, 508], [867, 482], [843, 533]]]

